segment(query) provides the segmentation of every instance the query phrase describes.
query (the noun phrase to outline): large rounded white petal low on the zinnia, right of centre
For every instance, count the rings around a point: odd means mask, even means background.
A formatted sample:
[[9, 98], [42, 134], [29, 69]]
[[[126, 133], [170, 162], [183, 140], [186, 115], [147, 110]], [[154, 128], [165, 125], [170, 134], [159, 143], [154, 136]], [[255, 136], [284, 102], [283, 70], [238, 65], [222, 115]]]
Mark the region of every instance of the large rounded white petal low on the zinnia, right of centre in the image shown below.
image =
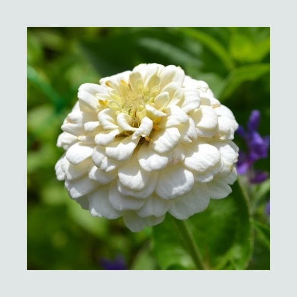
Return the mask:
[[193, 173], [176, 164], [160, 171], [155, 192], [163, 199], [173, 199], [188, 193], [193, 185]]

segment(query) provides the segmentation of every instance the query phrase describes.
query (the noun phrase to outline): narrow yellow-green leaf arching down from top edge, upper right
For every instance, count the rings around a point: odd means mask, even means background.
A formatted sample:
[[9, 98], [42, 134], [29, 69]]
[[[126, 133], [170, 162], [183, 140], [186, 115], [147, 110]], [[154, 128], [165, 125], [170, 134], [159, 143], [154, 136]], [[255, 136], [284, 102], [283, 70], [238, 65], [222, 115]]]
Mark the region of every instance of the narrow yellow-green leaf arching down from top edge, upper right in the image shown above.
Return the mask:
[[227, 70], [232, 70], [235, 67], [232, 57], [229, 55], [223, 45], [211, 35], [208, 35], [198, 29], [194, 28], [177, 28], [177, 30], [183, 32], [186, 36], [194, 38], [204, 45], [213, 54], [218, 56]]

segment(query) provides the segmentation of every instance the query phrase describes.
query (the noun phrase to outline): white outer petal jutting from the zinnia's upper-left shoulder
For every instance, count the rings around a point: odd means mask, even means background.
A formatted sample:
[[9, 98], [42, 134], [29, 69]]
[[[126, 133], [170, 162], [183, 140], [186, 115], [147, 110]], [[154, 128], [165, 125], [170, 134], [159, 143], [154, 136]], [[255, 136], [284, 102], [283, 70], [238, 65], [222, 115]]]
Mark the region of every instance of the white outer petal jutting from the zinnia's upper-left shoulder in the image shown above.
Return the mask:
[[86, 83], [79, 87], [77, 97], [80, 109], [86, 111], [96, 111], [99, 107], [96, 93], [107, 93], [107, 89], [97, 84]]

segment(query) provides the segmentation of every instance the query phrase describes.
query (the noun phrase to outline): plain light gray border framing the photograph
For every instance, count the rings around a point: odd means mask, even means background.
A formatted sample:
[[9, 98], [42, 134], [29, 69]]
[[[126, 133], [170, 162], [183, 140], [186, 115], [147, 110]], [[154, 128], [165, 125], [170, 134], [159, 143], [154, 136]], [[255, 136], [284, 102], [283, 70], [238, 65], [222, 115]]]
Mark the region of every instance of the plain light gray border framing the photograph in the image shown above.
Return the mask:
[[[275, 3], [27, 0], [2, 6], [1, 296], [296, 294], [296, 8], [293, 1]], [[271, 271], [26, 271], [27, 26], [271, 26]]]

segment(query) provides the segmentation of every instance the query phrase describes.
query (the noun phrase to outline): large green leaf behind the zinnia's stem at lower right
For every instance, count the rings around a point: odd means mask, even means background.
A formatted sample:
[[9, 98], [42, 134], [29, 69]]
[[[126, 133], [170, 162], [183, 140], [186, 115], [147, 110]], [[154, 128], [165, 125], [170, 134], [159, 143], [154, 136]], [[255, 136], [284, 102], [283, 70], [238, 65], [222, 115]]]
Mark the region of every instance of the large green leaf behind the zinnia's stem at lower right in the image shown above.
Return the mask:
[[[187, 220], [203, 258], [205, 269], [245, 269], [252, 255], [253, 236], [250, 204], [238, 182], [222, 200], [211, 200], [208, 208]], [[161, 269], [179, 265], [195, 269], [183, 236], [174, 219], [153, 227], [154, 252]]]

